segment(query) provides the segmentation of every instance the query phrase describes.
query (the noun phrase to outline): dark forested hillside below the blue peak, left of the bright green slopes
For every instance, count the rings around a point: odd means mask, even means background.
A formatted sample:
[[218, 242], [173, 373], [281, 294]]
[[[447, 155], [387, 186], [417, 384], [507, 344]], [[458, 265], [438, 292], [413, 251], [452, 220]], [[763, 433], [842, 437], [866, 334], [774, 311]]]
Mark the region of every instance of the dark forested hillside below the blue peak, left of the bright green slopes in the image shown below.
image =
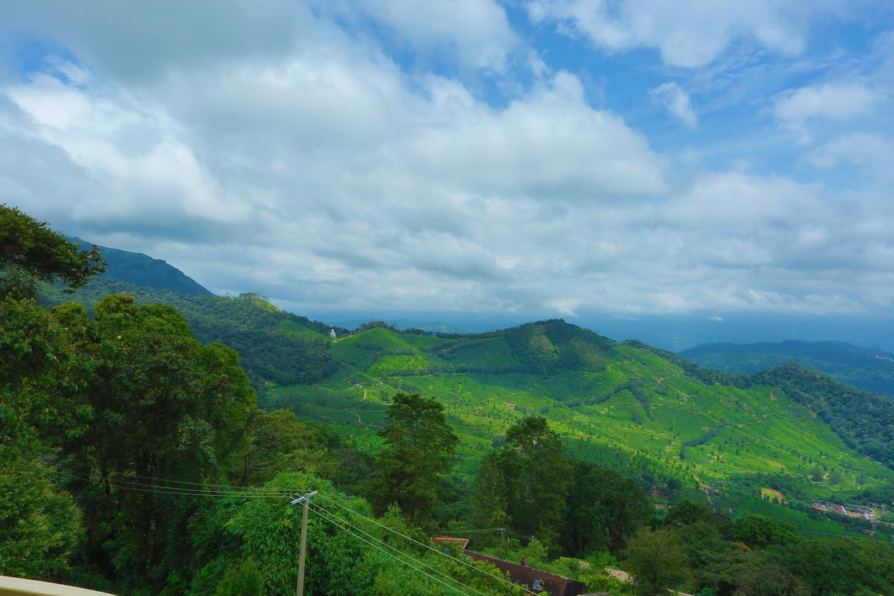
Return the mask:
[[[41, 298], [46, 304], [71, 300], [92, 308], [106, 294], [128, 294], [139, 304], [175, 307], [190, 321], [199, 341], [221, 342], [235, 349], [255, 385], [312, 383], [338, 368], [330, 354], [327, 326], [281, 311], [257, 294], [237, 298], [181, 294], [97, 277], [74, 294], [44, 285]], [[342, 335], [348, 333], [347, 329], [337, 330]]]

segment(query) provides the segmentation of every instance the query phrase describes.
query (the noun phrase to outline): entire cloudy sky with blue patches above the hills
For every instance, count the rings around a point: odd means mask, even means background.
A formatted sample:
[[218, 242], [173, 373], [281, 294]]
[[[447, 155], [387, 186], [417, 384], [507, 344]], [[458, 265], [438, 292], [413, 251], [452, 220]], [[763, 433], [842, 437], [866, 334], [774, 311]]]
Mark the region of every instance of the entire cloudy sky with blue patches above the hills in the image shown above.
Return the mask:
[[890, 315], [892, 114], [885, 0], [0, 20], [0, 202], [311, 315]]

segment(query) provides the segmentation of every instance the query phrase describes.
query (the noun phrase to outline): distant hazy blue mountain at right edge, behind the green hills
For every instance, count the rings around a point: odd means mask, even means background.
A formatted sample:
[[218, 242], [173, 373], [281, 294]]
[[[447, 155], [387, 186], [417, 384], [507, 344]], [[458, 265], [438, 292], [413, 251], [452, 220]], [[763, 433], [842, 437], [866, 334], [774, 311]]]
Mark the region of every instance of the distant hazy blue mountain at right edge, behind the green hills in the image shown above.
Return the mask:
[[854, 387], [894, 396], [894, 353], [845, 342], [703, 344], [680, 356], [704, 367], [735, 374], [752, 374], [794, 362], [818, 370]]

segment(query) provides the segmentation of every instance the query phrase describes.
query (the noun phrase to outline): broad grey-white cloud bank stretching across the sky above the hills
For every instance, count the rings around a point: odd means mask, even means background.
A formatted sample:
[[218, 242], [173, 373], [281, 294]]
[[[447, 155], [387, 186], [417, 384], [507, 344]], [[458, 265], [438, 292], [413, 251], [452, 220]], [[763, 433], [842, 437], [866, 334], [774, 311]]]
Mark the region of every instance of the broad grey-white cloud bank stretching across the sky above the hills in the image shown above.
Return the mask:
[[[246, 17], [250, 35], [226, 48], [203, 37], [231, 30], [226, 11], [194, 39], [174, 23], [176, 51], [131, 55], [139, 72], [122, 72], [114, 52], [131, 49], [109, 21], [34, 18], [78, 64], [0, 83], [4, 200], [310, 313], [851, 312], [894, 298], [882, 192], [702, 171], [591, 105], [572, 73], [534, 61], [535, 81], [492, 105], [297, 13]], [[150, 17], [144, 31], [122, 15], [142, 50], [164, 30]], [[669, 107], [687, 120], [685, 102]], [[842, 140], [815, 160], [847, 154]]]

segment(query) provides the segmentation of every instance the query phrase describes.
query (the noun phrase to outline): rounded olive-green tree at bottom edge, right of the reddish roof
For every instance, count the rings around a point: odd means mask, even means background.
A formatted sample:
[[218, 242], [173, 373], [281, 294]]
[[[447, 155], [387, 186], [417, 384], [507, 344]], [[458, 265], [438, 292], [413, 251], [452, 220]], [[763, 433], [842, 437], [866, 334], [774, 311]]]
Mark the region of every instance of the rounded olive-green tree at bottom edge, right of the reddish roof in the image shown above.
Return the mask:
[[634, 587], [643, 596], [665, 594], [688, 576], [686, 553], [671, 530], [640, 530], [624, 556]]

